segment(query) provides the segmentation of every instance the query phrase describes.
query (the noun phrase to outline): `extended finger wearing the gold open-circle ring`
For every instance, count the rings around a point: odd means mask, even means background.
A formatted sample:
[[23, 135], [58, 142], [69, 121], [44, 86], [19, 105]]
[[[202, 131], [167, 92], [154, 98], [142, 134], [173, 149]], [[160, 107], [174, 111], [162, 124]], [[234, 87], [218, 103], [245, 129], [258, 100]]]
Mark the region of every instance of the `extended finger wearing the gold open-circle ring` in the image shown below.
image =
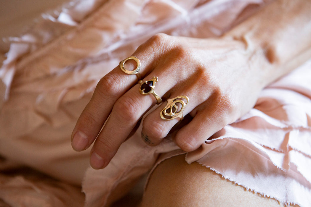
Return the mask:
[[[160, 44], [165, 36], [163, 34], [155, 35], [134, 53], [141, 60], [140, 74], [143, 77], [155, 67], [160, 53], [165, 52], [163, 44]], [[133, 64], [133, 61], [129, 60], [124, 63], [124, 67], [130, 70], [136, 65], [135, 62]], [[125, 74], [120, 66], [114, 68], [99, 81], [91, 101], [82, 111], [73, 129], [71, 139], [74, 150], [85, 150], [94, 142], [114, 103], [137, 81], [136, 75]]]

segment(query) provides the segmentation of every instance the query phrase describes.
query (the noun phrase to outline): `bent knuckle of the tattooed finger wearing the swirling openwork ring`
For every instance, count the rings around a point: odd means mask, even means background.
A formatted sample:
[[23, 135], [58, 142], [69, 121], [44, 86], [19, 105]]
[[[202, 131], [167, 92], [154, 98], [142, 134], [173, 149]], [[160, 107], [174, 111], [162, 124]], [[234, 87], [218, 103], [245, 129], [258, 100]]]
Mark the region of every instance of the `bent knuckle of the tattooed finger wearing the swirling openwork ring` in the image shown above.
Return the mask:
[[167, 135], [167, 129], [162, 123], [146, 117], [142, 123], [142, 127], [148, 132], [148, 136], [161, 139]]

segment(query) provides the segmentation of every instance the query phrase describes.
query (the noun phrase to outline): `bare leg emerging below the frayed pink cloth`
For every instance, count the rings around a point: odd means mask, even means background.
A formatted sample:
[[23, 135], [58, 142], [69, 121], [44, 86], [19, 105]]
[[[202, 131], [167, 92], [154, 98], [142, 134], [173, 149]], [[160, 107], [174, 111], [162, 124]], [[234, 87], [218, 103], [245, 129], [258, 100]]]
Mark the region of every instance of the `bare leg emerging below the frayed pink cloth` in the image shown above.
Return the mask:
[[185, 155], [163, 161], [148, 182], [144, 206], [281, 206], [271, 198], [245, 190]]

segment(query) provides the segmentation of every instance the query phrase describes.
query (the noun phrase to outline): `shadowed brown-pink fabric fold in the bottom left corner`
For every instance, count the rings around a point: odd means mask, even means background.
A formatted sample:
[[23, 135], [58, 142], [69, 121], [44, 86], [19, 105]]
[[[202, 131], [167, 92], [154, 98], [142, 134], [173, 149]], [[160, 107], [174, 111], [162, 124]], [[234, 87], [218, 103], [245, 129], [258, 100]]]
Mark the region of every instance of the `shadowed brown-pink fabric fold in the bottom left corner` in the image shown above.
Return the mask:
[[0, 206], [78, 207], [84, 203], [79, 187], [29, 170], [14, 176], [1, 174], [0, 195]]

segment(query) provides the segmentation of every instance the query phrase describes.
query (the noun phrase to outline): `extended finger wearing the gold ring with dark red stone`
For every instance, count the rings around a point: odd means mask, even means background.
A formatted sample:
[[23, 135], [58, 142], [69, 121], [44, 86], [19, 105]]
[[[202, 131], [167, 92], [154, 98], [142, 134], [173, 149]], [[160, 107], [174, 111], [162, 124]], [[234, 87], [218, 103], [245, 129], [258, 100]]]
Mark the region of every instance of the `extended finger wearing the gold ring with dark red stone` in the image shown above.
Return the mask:
[[[163, 96], [173, 85], [173, 81], [165, 84], [159, 80], [155, 89]], [[140, 87], [141, 84], [135, 85], [115, 102], [109, 119], [91, 150], [90, 163], [94, 169], [104, 168], [109, 163], [137, 122], [156, 104], [156, 98], [152, 94], [144, 96], [139, 92]]]

